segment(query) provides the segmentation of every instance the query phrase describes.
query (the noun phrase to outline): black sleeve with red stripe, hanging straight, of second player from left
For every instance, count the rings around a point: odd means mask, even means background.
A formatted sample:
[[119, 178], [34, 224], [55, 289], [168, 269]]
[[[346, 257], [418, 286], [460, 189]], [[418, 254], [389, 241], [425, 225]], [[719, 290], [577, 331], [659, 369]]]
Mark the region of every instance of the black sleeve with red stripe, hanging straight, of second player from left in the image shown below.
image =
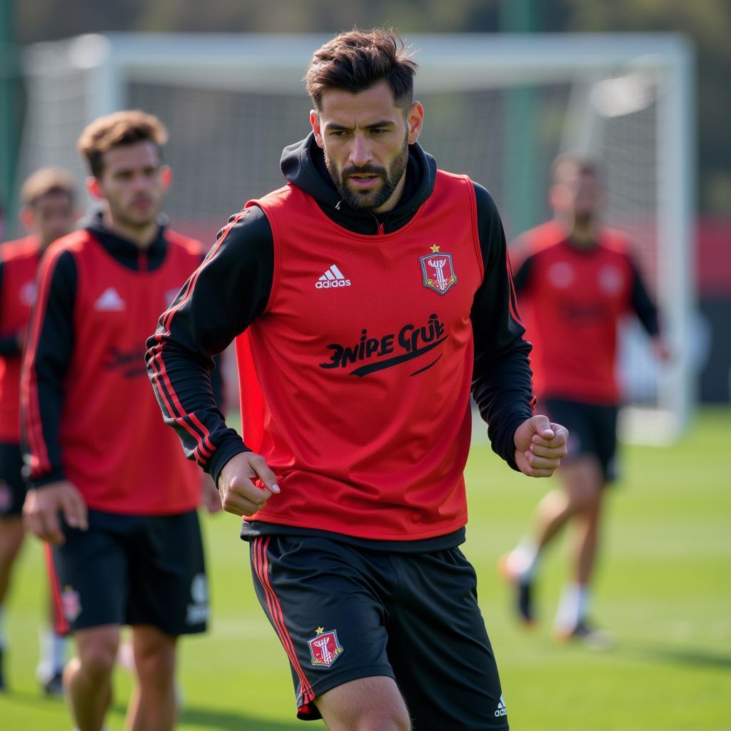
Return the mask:
[[35, 488], [64, 479], [58, 431], [64, 379], [74, 348], [76, 262], [69, 251], [44, 257], [39, 267], [38, 298], [31, 310], [23, 357], [20, 431], [26, 471]]

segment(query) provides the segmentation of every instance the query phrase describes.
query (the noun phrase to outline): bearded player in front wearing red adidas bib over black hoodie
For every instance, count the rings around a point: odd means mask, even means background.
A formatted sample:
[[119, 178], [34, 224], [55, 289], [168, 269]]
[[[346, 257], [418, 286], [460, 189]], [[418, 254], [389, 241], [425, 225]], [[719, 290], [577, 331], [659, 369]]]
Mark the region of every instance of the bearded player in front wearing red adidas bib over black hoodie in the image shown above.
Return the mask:
[[[532, 412], [499, 214], [417, 143], [415, 69], [391, 31], [317, 50], [287, 186], [230, 219], [148, 341], [165, 420], [246, 518], [298, 716], [333, 731], [508, 727], [458, 548], [470, 387], [512, 469], [566, 455]], [[234, 338], [246, 444], [208, 386]]]

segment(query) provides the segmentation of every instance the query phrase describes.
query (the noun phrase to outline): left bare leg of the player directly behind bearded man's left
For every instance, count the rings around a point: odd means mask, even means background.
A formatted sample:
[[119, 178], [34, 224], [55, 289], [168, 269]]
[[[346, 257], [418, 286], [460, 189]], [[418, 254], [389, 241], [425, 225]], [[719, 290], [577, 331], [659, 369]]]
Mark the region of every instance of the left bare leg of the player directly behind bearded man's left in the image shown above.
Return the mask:
[[77, 656], [64, 670], [64, 689], [79, 731], [100, 731], [112, 702], [112, 670], [119, 626], [105, 624], [75, 632]]

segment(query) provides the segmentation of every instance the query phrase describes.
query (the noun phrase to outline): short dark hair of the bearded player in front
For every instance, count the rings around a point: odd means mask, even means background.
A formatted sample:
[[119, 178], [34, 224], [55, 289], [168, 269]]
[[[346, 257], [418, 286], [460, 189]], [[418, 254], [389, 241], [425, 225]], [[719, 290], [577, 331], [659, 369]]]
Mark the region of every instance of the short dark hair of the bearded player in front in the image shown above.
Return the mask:
[[314, 52], [305, 76], [307, 93], [319, 110], [329, 89], [357, 94], [387, 81], [395, 103], [411, 106], [417, 69], [412, 55], [393, 29], [345, 31]]

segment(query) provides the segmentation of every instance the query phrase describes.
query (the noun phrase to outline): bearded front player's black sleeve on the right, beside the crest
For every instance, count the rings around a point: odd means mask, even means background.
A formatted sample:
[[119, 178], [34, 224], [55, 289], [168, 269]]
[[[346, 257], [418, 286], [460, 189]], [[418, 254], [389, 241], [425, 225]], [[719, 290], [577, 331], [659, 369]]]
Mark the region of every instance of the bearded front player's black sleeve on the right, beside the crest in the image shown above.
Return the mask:
[[518, 319], [507, 246], [500, 215], [491, 195], [474, 183], [477, 228], [485, 276], [474, 295], [474, 371], [472, 396], [488, 423], [493, 451], [512, 469], [515, 430], [533, 415], [533, 383], [525, 328]]

